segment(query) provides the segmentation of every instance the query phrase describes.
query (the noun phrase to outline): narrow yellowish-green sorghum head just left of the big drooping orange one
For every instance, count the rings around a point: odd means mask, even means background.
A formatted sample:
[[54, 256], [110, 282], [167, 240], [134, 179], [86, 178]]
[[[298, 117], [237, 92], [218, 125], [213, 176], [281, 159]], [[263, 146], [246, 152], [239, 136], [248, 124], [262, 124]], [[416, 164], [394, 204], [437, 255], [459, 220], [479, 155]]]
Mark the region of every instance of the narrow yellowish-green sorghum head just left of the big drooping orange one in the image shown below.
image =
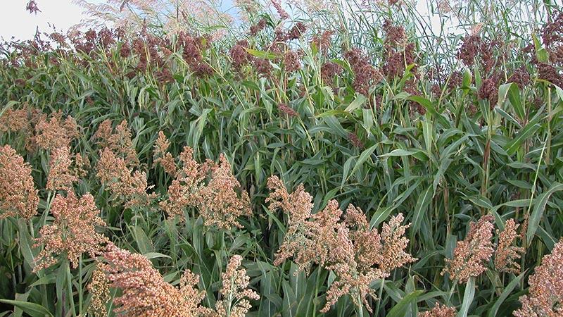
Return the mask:
[[107, 304], [110, 301], [110, 281], [105, 273], [105, 264], [98, 263], [92, 273], [88, 284], [88, 292], [91, 294], [88, 312], [94, 317], [108, 316]]

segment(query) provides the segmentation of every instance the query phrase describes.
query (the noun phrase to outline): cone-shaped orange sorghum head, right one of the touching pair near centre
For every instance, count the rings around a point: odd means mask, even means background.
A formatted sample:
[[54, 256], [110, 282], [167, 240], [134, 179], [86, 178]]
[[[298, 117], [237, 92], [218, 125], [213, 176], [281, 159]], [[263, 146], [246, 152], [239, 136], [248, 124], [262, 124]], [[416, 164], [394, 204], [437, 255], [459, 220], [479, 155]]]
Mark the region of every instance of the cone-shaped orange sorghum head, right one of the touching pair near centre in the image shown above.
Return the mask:
[[236, 219], [252, 215], [250, 197], [232, 175], [231, 164], [224, 154], [219, 156], [219, 164], [211, 169], [211, 179], [200, 189], [197, 199], [198, 210], [206, 226], [224, 230], [242, 228]]

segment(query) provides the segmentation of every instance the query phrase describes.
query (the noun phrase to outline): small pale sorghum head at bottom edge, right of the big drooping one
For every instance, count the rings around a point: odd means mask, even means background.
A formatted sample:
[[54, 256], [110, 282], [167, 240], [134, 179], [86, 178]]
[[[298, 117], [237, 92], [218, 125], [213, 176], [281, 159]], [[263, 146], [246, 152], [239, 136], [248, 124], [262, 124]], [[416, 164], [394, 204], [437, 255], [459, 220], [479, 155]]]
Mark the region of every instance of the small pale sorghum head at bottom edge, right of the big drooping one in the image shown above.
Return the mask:
[[240, 268], [241, 263], [241, 256], [232, 256], [227, 269], [222, 273], [222, 299], [215, 304], [215, 313], [212, 316], [244, 317], [252, 307], [248, 299], [260, 299], [257, 292], [248, 288], [250, 278], [246, 275], [246, 269]]

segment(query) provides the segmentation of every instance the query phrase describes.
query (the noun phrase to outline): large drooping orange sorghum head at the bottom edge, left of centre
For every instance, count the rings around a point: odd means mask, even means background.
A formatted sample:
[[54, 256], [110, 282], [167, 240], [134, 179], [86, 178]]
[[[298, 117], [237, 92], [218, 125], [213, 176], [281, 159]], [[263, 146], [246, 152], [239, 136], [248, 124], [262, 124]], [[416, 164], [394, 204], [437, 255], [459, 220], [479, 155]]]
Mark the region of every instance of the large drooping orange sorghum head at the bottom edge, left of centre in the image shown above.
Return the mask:
[[113, 300], [121, 316], [209, 316], [201, 306], [205, 291], [197, 289], [198, 275], [186, 270], [179, 288], [165, 282], [151, 261], [141, 254], [108, 244], [103, 254], [111, 287], [122, 290]]

